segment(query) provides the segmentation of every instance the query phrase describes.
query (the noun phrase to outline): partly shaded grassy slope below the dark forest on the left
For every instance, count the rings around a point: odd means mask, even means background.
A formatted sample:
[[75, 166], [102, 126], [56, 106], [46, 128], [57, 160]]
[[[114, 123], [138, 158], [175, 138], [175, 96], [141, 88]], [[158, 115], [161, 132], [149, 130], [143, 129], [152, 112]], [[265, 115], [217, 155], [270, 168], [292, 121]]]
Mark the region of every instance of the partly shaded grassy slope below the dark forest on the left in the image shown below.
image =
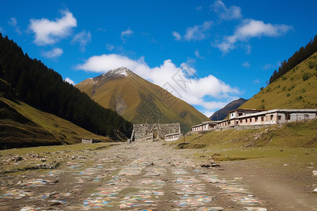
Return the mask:
[[82, 138], [111, 141], [23, 102], [0, 98], [1, 148], [78, 143]]

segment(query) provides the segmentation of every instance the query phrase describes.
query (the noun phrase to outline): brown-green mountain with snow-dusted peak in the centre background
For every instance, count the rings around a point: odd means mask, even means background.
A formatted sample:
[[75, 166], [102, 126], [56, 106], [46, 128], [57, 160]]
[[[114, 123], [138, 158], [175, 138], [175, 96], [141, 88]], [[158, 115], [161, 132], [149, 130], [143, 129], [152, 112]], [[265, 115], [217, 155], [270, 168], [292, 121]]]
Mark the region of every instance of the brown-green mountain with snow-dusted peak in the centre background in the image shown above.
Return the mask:
[[75, 87], [134, 124], [180, 122], [187, 131], [193, 124], [209, 120], [193, 106], [127, 68], [109, 70]]

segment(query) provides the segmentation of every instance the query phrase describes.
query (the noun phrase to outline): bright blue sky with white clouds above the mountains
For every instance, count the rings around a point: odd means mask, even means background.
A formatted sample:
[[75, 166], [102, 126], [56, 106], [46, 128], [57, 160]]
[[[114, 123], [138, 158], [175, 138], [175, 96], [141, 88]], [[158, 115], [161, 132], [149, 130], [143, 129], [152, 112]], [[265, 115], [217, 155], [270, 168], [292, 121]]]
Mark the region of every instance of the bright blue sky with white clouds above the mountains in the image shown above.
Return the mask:
[[251, 98], [313, 39], [316, 8], [317, 1], [4, 1], [0, 32], [68, 82], [126, 66], [209, 116]]

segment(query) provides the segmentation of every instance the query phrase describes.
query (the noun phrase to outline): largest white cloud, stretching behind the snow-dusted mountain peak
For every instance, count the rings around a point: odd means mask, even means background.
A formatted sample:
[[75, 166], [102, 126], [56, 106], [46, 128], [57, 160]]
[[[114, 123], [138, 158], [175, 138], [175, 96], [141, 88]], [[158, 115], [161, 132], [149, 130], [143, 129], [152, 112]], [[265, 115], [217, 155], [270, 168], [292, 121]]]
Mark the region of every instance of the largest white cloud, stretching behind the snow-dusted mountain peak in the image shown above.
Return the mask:
[[[213, 75], [197, 77], [195, 75], [197, 70], [192, 68], [189, 63], [182, 63], [180, 67], [177, 67], [169, 59], [164, 60], [160, 66], [150, 68], [144, 61], [144, 57], [132, 60], [118, 54], [104, 54], [90, 57], [85, 63], [77, 65], [76, 69], [104, 73], [121, 66], [163, 87], [187, 103], [203, 106], [207, 110], [221, 108], [218, 101], [231, 100], [232, 94], [240, 93], [239, 89], [230, 87]], [[216, 100], [206, 101], [204, 100], [206, 96]]]

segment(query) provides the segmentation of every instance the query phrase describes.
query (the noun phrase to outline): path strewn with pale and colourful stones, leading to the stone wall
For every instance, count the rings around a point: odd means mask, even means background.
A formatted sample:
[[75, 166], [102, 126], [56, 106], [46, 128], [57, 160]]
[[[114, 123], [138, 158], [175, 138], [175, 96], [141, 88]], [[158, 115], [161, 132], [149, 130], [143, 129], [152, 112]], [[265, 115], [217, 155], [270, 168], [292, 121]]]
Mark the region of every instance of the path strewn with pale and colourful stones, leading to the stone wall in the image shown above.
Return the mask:
[[[163, 142], [63, 158], [56, 170], [1, 176], [0, 210], [266, 210], [243, 178], [221, 178]], [[65, 156], [64, 156], [65, 157]]]

